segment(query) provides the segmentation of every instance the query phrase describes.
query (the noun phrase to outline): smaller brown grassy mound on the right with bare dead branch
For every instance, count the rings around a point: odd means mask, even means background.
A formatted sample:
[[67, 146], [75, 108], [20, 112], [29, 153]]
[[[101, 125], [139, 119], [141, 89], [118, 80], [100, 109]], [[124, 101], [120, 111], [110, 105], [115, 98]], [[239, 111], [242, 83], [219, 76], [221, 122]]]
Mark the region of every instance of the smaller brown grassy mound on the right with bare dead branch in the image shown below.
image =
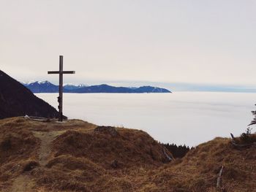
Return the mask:
[[214, 191], [217, 174], [224, 166], [226, 191], [256, 191], [256, 148], [236, 150], [230, 139], [216, 138], [191, 150], [180, 164], [157, 170], [154, 183], [176, 191]]

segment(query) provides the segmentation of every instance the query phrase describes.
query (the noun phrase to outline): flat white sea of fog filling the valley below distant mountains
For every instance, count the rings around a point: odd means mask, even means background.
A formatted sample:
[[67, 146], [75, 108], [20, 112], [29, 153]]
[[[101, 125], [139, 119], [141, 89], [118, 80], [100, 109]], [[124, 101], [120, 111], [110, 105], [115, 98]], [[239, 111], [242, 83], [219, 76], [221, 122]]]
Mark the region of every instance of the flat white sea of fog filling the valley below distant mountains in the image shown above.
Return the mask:
[[[57, 93], [36, 95], [57, 108]], [[255, 103], [256, 93], [64, 93], [64, 115], [142, 129], [159, 142], [195, 146], [241, 134]]]

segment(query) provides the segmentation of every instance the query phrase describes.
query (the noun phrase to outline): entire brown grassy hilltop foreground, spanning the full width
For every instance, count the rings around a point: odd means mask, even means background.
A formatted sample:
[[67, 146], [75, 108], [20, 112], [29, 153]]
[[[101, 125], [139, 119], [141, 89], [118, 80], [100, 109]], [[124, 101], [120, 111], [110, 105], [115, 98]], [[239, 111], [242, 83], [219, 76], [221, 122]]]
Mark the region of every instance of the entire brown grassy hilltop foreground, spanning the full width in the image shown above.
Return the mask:
[[0, 191], [217, 191], [221, 166], [226, 191], [256, 191], [256, 147], [216, 138], [169, 158], [144, 131], [0, 120]]

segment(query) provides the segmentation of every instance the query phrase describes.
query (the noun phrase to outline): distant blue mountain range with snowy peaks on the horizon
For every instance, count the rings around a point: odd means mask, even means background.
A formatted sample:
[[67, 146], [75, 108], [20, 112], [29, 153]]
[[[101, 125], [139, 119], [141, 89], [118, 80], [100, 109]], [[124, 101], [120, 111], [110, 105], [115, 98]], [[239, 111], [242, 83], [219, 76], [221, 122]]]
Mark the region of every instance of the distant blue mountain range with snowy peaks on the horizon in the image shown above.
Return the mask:
[[[59, 85], [54, 85], [51, 82], [23, 82], [26, 88], [29, 88], [33, 93], [58, 93]], [[113, 87], [110, 85], [72, 85], [66, 84], [63, 88], [64, 93], [171, 93], [165, 88], [157, 88], [151, 86], [142, 86], [139, 88]]]

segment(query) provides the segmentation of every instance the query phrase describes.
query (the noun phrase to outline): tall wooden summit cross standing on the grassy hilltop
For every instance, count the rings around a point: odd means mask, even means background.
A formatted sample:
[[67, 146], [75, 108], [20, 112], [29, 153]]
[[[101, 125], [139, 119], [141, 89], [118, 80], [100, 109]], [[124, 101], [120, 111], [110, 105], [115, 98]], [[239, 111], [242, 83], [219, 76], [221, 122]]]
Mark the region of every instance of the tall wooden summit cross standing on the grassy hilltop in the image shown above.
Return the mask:
[[59, 72], [48, 72], [48, 74], [59, 74], [59, 121], [63, 121], [63, 74], [75, 74], [75, 71], [63, 71], [63, 55], [59, 56]]

